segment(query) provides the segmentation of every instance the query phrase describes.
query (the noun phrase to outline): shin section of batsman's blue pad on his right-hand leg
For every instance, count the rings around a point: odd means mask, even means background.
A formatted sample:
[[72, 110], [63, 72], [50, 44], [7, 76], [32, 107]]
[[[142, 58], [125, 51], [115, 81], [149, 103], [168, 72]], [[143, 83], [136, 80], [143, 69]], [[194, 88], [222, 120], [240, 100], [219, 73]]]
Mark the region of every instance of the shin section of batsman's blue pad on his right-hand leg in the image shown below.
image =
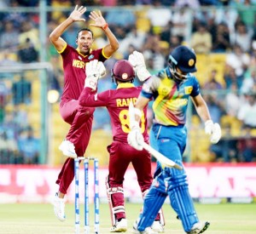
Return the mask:
[[182, 221], [184, 231], [190, 231], [199, 220], [194, 203], [189, 194], [188, 185], [180, 185], [168, 192], [172, 208]]

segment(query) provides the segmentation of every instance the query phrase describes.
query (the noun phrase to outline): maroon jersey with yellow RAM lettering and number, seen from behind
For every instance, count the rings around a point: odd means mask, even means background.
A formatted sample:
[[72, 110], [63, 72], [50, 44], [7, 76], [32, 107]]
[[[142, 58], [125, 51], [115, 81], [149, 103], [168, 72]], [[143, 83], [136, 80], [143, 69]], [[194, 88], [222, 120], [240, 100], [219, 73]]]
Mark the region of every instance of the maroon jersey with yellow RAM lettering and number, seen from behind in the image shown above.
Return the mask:
[[[111, 118], [113, 140], [127, 142], [129, 128], [129, 104], [135, 104], [142, 87], [132, 83], [119, 83], [117, 89], [107, 90], [101, 94], [91, 94], [91, 88], [84, 88], [79, 97], [81, 106], [106, 106]], [[143, 110], [141, 129], [144, 140], [148, 142], [147, 106]]]

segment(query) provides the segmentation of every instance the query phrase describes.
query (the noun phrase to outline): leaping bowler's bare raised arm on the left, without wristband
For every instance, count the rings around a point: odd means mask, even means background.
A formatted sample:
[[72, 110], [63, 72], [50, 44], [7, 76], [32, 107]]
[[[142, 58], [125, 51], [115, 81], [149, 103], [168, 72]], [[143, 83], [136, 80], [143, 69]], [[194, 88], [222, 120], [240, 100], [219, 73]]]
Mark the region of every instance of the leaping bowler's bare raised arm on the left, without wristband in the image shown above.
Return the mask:
[[79, 7], [76, 5], [73, 12], [69, 15], [69, 17], [64, 20], [61, 25], [57, 26], [54, 31], [52, 31], [49, 34], [49, 40], [51, 43], [54, 44], [55, 49], [58, 51], [61, 51], [65, 46], [66, 42], [63, 38], [61, 38], [61, 35], [64, 31], [66, 31], [67, 27], [73, 24], [75, 21], [85, 21], [84, 18], [81, 18], [84, 12], [86, 11], [86, 8], [81, 6]]

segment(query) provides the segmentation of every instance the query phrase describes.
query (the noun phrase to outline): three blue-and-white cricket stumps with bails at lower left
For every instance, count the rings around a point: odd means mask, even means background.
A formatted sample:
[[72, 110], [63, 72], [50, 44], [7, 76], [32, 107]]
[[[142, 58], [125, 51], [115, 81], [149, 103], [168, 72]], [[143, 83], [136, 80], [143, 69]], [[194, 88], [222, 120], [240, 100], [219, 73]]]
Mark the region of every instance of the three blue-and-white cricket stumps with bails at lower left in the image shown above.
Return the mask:
[[99, 160], [96, 157], [78, 157], [74, 159], [75, 174], [75, 234], [80, 233], [79, 215], [79, 163], [84, 161], [84, 234], [90, 233], [89, 224], [89, 161], [94, 161], [94, 228], [95, 233], [100, 229], [100, 201], [99, 201]]

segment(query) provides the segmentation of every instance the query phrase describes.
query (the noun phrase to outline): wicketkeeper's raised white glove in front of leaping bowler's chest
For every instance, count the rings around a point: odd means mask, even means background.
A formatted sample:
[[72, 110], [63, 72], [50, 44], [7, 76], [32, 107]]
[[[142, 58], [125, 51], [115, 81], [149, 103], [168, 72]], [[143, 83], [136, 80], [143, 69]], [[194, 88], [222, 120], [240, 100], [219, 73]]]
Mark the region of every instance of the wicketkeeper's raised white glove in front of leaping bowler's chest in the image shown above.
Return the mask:
[[98, 79], [106, 74], [106, 68], [101, 61], [92, 60], [85, 66], [85, 83], [84, 87], [96, 90]]

